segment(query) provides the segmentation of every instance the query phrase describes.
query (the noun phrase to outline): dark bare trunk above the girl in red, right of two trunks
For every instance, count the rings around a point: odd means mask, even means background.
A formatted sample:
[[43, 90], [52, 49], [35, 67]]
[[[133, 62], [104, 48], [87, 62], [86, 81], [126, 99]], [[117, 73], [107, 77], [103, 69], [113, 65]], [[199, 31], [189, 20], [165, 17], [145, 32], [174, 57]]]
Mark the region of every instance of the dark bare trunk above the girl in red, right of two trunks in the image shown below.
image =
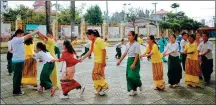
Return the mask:
[[71, 1], [71, 41], [73, 41], [74, 38], [74, 26], [75, 26], [75, 1]]

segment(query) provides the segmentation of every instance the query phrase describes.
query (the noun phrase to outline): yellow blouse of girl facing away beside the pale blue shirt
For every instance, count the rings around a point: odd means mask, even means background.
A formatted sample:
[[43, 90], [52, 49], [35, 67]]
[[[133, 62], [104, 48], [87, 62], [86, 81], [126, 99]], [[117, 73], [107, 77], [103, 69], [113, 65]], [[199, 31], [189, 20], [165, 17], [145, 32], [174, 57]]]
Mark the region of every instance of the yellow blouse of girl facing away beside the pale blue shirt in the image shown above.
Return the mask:
[[24, 45], [25, 48], [25, 59], [31, 58], [35, 54], [34, 52], [34, 44]]

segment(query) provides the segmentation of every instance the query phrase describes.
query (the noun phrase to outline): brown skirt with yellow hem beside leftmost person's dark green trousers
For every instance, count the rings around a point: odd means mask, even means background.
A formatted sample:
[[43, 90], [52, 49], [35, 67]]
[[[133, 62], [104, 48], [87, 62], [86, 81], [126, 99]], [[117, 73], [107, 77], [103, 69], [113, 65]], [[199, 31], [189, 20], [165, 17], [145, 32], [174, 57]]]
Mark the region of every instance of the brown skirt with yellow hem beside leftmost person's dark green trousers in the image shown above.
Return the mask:
[[37, 61], [33, 58], [26, 59], [24, 62], [22, 84], [37, 85]]

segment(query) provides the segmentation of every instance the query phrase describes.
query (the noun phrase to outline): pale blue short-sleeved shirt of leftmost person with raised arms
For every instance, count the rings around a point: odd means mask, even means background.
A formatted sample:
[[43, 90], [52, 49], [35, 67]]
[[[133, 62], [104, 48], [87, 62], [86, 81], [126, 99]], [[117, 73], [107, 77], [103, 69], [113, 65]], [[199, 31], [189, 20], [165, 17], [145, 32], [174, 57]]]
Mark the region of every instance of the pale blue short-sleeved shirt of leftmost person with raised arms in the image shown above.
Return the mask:
[[12, 61], [13, 62], [20, 62], [25, 60], [25, 51], [24, 51], [24, 37], [14, 37], [11, 40], [12, 46]]

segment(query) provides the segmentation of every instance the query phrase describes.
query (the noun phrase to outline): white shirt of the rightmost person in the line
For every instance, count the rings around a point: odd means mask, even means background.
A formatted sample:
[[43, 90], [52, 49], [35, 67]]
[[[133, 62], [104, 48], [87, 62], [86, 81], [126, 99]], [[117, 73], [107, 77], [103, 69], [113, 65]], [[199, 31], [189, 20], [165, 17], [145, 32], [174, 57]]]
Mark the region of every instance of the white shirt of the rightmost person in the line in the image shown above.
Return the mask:
[[213, 44], [210, 41], [207, 41], [206, 43], [204, 43], [204, 41], [202, 41], [199, 46], [198, 46], [198, 50], [200, 51], [201, 54], [205, 53], [206, 51], [208, 51], [208, 49], [210, 50], [205, 56], [208, 59], [213, 59], [212, 57], [212, 50], [213, 50]]

